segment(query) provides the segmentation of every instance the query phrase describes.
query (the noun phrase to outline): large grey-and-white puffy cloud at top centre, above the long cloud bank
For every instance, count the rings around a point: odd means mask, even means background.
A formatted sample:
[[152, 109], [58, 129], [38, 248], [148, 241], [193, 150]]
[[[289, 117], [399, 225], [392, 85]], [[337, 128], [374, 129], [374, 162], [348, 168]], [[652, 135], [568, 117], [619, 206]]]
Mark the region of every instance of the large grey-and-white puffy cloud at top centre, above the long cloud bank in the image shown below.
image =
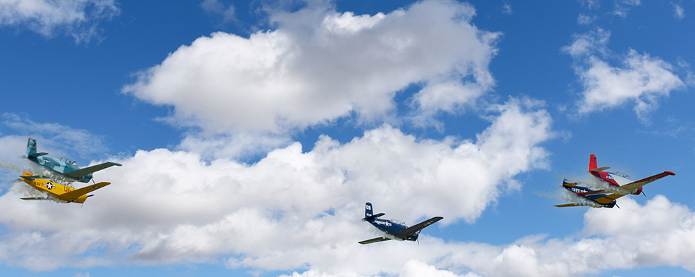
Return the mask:
[[450, 111], [489, 90], [498, 33], [455, 1], [423, 1], [388, 14], [321, 5], [274, 12], [274, 30], [213, 33], [179, 47], [123, 88], [174, 107], [177, 124], [208, 133], [285, 133], [356, 113], [389, 117], [409, 85], [418, 114]]

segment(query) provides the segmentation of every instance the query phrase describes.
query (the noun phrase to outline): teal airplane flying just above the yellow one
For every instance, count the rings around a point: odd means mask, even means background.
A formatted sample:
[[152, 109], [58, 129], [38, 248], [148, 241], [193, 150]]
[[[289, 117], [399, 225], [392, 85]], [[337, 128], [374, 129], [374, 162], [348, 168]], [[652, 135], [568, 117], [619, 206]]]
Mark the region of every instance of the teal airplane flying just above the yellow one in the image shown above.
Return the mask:
[[24, 156], [24, 158], [27, 158], [38, 165], [47, 167], [59, 176], [63, 176], [68, 180], [88, 183], [90, 180], [92, 180], [92, 173], [95, 171], [99, 171], [107, 167], [113, 167], [114, 165], [119, 167], [121, 166], [121, 164], [117, 162], [104, 162], [99, 165], [80, 168], [77, 166], [77, 162], [73, 160], [68, 160], [66, 158], [50, 158], [46, 155], [48, 155], [46, 152], [36, 152], [36, 140], [29, 137], [29, 139], [26, 141], [26, 156]]

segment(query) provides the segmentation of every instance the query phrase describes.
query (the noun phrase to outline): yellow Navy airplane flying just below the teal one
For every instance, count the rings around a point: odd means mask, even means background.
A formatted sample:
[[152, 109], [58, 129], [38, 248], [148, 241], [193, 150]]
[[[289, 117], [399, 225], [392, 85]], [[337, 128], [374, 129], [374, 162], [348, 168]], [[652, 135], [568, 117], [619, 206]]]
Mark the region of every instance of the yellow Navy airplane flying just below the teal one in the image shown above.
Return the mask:
[[48, 197], [22, 197], [21, 199], [23, 200], [55, 200], [63, 203], [85, 203], [87, 197], [94, 195], [87, 195], [88, 193], [111, 184], [108, 182], [101, 182], [75, 189], [74, 187], [62, 185], [56, 181], [39, 179], [37, 178], [38, 176], [32, 176], [31, 172], [24, 172], [20, 177], [22, 177], [24, 183], [31, 185], [31, 187], [36, 190], [49, 193]]

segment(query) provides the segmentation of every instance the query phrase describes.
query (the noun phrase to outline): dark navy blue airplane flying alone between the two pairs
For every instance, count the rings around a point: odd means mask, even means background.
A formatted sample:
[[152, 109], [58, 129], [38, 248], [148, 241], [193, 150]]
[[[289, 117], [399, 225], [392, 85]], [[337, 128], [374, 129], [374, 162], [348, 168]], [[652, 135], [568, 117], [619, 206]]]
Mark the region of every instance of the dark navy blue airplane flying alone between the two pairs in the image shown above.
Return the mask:
[[[434, 224], [436, 221], [440, 221], [443, 219], [443, 217], [432, 217], [431, 219], [427, 219], [425, 221], [422, 221], [418, 224], [415, 224], [413, 226], [406, 226], [404, 223], [400, 221], [396, 221], [395, 219], [391, 220], [386, 220], [386, 219], [379, 219], [382, 215], [385, 215], [383, 212], [373, 215], [372, 213], [372, 203], [367, 202], [366, 206], [364, 208], [364, 218], [362, 219], [363, 221], [367, 221], [373, 226], [375, 226], [377, 229], [381, 230], [384, 232], [384, 235], [381, 237], [375, 237], [370, 240], [363, 240], [359, 242], [359, 244], [370, 244], [374, 242], [383, 242], [385, 240], [409, 240], [411, 242], [417, 241], [418, 236], [420, 235], [420, 231], [423, 230], [423, 228], [430, 226]], [[419, 241], [418, 241], [419, 244]]]

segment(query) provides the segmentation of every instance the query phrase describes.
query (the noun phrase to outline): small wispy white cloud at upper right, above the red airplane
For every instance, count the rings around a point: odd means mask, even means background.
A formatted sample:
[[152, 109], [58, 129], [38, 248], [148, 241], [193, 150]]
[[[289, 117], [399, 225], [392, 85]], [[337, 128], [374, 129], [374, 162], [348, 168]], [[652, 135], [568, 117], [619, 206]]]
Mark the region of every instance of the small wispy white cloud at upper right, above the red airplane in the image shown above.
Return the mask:
[[618, 57], [621, 66], [610, 65], [605, 60], [614, 56], [607, 50], [609, 37], [610, 32], [599, 29], [576, 35], [571, 44], [563, 47], [575, 59], [575, 72], [584, 87], [578, 111], [587, 114], [632, 102], [639, 119], [647, 122], [648, 114], [658, 108], [657, 100], [685, 84], [672, 72], [669, 63], [633, 49]]

